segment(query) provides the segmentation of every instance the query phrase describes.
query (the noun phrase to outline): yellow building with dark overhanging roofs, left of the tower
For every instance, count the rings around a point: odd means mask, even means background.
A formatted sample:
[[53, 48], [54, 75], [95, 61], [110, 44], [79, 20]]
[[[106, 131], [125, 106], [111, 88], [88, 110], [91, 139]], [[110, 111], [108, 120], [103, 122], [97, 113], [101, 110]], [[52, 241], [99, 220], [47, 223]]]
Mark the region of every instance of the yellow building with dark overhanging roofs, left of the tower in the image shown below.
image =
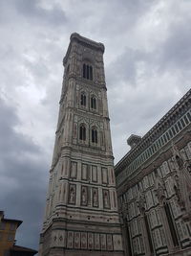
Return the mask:
[[16, 230], [23, 221], [4, 218], [0, 211], [0, 256], [32, 256], [36, 250], [15, 245]]

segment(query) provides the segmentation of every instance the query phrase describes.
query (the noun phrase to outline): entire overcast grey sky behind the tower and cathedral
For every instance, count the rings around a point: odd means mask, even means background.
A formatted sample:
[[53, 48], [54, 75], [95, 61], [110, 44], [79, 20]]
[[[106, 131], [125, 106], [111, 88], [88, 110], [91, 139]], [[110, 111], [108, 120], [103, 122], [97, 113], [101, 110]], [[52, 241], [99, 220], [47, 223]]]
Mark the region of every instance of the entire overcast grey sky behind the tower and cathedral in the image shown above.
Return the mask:
[[103, 42], [114, 154], [191, 84], [190, 0], [0, 1], [0, 210], [38, 247], [69, 37]]

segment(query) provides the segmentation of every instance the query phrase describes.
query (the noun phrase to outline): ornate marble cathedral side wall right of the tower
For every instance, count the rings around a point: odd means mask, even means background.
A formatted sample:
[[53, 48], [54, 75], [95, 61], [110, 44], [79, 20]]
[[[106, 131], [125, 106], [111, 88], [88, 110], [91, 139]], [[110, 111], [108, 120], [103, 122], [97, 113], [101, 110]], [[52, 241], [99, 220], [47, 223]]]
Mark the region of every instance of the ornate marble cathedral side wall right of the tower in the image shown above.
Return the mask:
[[191, 255], [191, 90], [117, 163], [126, 256]]

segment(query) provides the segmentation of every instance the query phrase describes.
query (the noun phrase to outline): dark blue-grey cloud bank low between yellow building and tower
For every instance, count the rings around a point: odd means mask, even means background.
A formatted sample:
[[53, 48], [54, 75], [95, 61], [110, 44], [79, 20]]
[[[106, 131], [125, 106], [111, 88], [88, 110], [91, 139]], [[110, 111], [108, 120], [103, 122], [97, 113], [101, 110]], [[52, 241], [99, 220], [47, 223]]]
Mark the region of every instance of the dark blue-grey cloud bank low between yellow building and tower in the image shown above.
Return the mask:
[[28, 136], [14, 131], [19, 120], [0, 100], [0, 202], [7, 218], [22, 220], [18, 244], [38, 247], [48, 181], [48, 161]]

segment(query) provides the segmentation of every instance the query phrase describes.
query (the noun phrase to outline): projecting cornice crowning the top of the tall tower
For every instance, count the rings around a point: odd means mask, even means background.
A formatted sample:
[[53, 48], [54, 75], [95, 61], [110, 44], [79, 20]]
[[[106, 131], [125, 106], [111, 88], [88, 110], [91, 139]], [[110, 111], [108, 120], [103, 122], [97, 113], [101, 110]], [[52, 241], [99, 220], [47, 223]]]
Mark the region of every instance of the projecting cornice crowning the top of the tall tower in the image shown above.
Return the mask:
[[72, 43], [75, 41], [85, 47], [88, 47], [88, 48], [91, 48], [93, 50], [96, 50], [96, 51], [100, 51], [102, 53], [104, 53], [105, 51], [105, 47], [104, 47], [104, 44], [100, 43], [100, 42], [96, 42], [96, 41], [93, 41], [91, 39], [88, 39], [84, 36], [81, 36], [77, 33], [73, 33], [70, 37], [70, 44], [69, 44], [69, 47], [68, 47], [68, 50], [67, 50], [67, 53], [66, 53], [66, 56], [64, 57], [63, 59], [63, 65], [65, 66], [66, 62], [67, 62], [67, 59], [69, 57], [69, 54], [71, 52], [71, 48], [72, 48]]

